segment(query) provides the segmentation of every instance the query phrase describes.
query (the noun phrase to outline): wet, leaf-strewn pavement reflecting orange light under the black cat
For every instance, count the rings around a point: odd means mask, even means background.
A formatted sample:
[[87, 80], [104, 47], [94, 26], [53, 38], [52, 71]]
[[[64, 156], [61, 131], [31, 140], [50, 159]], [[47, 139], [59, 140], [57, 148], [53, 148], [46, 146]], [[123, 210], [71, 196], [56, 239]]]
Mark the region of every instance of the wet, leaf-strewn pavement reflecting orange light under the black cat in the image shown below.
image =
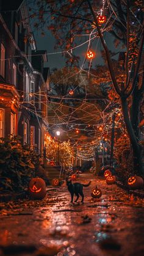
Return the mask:
[[[48, 191], [42, 204], [16, 208], [27, 215], [13, 216], [15, 209], [1, 215], [0, 255], [144, 255], [144, 200], [92, 174], [82, 174], [77, 182], [89, 180], [83, 205], [70, 204], [63, 184]], [[90, 194], [95, 185], [103, 196], [94, 200]]]

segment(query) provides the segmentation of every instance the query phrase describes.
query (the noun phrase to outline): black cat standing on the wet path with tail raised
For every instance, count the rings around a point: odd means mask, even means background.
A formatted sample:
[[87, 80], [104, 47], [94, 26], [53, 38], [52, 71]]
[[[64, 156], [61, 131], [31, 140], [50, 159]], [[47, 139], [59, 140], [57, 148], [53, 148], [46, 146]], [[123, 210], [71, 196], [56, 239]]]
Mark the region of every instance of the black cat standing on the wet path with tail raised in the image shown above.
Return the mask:
[[68, 191], [71, 194], [71, 203], [73, 203], [74, 194], [77, 196], [77, 198], [74, 202], [77, 202], [77, 200], [79, 199], [79, 195], [82, 197], [81, 202], [84, 201], [84, 194], [82, 192], [83, 186], [88, 187], [88, 186], [90, 186], [90, 183], [91, 183], [91, 181], [89, 181], [88, 184], [84, 185], [84, 184], [78, 183], [78, 182], [71, 183], [71, 180], [67, 180]]

